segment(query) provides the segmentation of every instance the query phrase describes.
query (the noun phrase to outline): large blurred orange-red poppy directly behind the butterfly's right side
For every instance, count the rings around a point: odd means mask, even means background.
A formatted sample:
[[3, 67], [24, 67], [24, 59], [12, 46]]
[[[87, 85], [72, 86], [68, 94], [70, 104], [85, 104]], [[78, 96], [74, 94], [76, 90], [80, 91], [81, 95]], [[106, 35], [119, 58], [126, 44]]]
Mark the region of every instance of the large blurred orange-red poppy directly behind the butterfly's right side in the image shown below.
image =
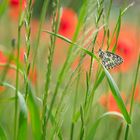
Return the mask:
[[[115, 38], [110, 46], [110, 49], [114, 47], [114, 42]], [[137, 62], [138, 49], [138, 36], [136, 28], [125, 23], [122, 25], [120, 30], [116, 47], [116, 54], [120, 55], [124, 59], [124, 62], [120, 66], [116, 67], [116, 70], [121, 72], [131, 70]]]

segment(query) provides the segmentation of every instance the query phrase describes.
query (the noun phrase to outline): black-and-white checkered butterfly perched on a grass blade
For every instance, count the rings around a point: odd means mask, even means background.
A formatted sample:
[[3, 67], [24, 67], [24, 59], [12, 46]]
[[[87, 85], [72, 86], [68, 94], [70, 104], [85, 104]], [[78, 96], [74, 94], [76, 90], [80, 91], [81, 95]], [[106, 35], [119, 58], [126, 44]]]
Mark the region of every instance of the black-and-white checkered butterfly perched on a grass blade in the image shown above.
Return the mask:
[[114, 68], [123, 62], [123, 58], [119, 55], [109, 51], [104, 52], [102, 49], [99, 49], [98, 55], [106, 69]]

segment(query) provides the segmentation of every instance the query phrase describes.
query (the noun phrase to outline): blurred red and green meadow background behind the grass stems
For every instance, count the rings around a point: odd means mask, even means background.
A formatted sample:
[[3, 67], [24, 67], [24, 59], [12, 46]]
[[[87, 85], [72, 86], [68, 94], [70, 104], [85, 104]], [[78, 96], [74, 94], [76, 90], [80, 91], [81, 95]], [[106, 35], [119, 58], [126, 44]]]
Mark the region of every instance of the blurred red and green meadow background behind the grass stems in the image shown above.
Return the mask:
[[[34, 69], [30, 69], [29, 79], [32, 83], [33, 89], [35, 90], [36, 96], [42, 98], [42, 93], [44, 92], [45, 85], [45, 75], [47, 69], [47, 58], [48, 58], [48, 47], [50, 45], [50, 35], [44, 30], [51, 31], [52, 24], [52, 12], [53, 12], [53, 0], [49, 2], [48, 10], [46, 13], [46, 19], [43, 23], [43, 27], [41, 30], [41, 38], [39, 43], [39, 48], [37, 52], [36, 62]], [[110, 17], [109, 17], [109, 30], [110, 36], [113, 33], [116, 22], [118, 20], [120, 9], [125, 9], [129, 4], [133, 3], [134, 5], [127, 9], [126, 13], [122, 16], [121, 19], [121, 29], [120, 34], [117, 41], [116, 54], [120, 55], [124, 59], [124, 63], [119, 67], [111, 70], [111, 75], [113, 75], [120, 91], [122, 98], [127, 106], [127, 109], [130, 108], [129, 97], [132, 93], [133, 81], [136, 72], [136, 67], [138, 63], [138, 55], [140, 53], [140, 0], [113, 0]], [[58, 33], [72, 40], [78, 20], [80, 9], [83, 4], [83, 0], [61, 0], [60, 5], [62, 7], [62, 15], [60, 18], [60, 26], [58, 29]], [[83, 45], [83, 47], [87, 47], [88, 44], [92, 42], [90, 39], [91, 34], [95, 31], [96, 23], [96, 14], [97, 7], [96, 2], [91, 1], [91, 7], [89, 6], [89, 19], [87, 17], [87, 21], [85, 22], [86, 30], [89, 29], [89, 32], [84, 34], [83, 30], [81, 30], [77, 44]], [[105, 0], [104, 7], [104, 15], [106, 15], [110, 0]], [[95, 5], [94, 5], [95, 4]], [[89, 4], [90, 5], [90, 4]], [[43, 0], [33, 0], [32, 1], [32, 19], [31, 19], [31, 50], [29, 61], [32, 62], [35, 46], [37, 42], [37, 34], [39, 30], [40, 24], [40, 16], [41, 10], [43, 6]], [[26, 0], [22, 1], [22, 10], [26, 7]], [[96, 8], [95, 8], [96, 7]], [[14, 65], [16, 63], [17, 57], [17, 35], [18, 35], [18, 19], [20, 13], [20, 3], [19, 0], [0, 0], [0, 78], [3, 81], [8, 81], [15, 85], [16, 73], [13, 68], [9, 68], [5, 70], [6, 64], [9, 63]], [[104, 19], [101, 20], [100, 25], [104, 24]], [[102, 46], [104, 31], [101, 29], [99, 31], [97, 42], [95, 43], [95, 50], [97, 51]], [[21, 30], [21, 45], [20, 45], [20, 68], [25, 69], [25, 51], [26, 51], [26, 29], [25, 27]], [[84, 38], [83, 38], [84, 37]], [[114, 46], [116, 36], [112, 39], [110, 43], [110, 49]], [[86, 40], [88, 40], [86, 42]], [[84, 43], [83, 43], [84, 42]], [[107, 38], [105, 38], [103, 50], [107, 48]], [[69, 44], [61, 39], [56, 39], [56, 48], [53, 57], [53, 66], [52, 66], [52, 83], [50, 85], [50, 92], [52, 92], [55, 88], [56, 80], [58, 77], [58, 73], [62, 68], [69, 49]], [[78, 53], [77, 56], [74, 56], [72, 64], [66, 73], [65, 81], [60, 86], [60, 93], [64, 90], [66, 83], [69, 80], [70, 74], [76, 69], [81, 54]], [[80, 88], [78, 91], [78, 101], [77, 106], [79, 107], [84, 98], [84, 92], [86, 91], [86, 72], [90, 68], [90, 57], [86, 56], [81, 65], [81, 73], [80, 73]], [[12, 66], [11, 66], [12, 67]], [[96, 71], [98, 68], [98, 64], [94, 63], [93, 70]], [[96, 72], [95, 72], [96, 73]], [[76, 79], [78, 74], [74, 76]], [[24, 77], [20, 75], [20, 90], [24, 91]], [[95, 78], [93, 72], [93, 79]], [[92, 83], [93, 84], [93, 83]], [[65, 107], [62, 109], [62, 114], [64, 115], [64, 123], [62, 125], [62, 130], [64, 133], [64, 138], [67, 140], [70, 132], [70, 122], [71, 122], [71, 114], [72, 108], [74, 104], [74, 94], [75, 94], [75, 85], [76, 82], [73, 80], [73, 83], [68, 88], [68, 95], [66, 96], [62, 106]], [[97, 94], [95, 95], [95, 102], [93, 105], [93, 112], [89, 117], [89, 122], [92, 122], [92, 119], [98, 118], [101, 113], [106, 111], [117, 111], [120, 110], [117, 107], [117, 104], [111, 94], [111, 91], [108, 88], [108, 85], [105, 81], [103, 84], [99, 86], [97, 89]], [[13, 134], [13, 106], [12, 102], [13, 91], [9, 88], [5, 88], [0, 86], [0, 125], [2, 125], [5, 130], [8, 132], [8, 138]], [[51, 96], [50, 96], [51, 97]], [[49, 99], [50, 99], [49, 97]], [[9, 99], [10, 98], [10, 99]], [[58, 95], [58, 101], [60, 99], [60, 95]], [[138, 82], [136, 85], [135, 91], [135, 108], [133, 114], [133, 136], [131, 136], [130, 140], [139, 140], [140, 138], [140, 75], [138, 76]], [[57, 103], [55, 104], [57, 106]], [[78, 108], [77, 107], [77, 108]], [[66, 109], [67, 108], [67, 109]], [[66, 113], [64, 113], [64, 112]], [[30, 118], [30, 117], [29, 117]], [[30, 122], [30, 119], [28, 119]], [[112, 125], [111, 125], [112, 124]], [[88, 124], [90, 126], [90, 124]], [[80, 126], [80, 123], [76, 126]], [[30, 128], [30, 126], [29, 126]], [[95, 140], [115, 140], [117, 139], [118, 134], [123, 136], [124, 133], [124, 125], [121, 124], [120, 121], [116, 121], [114, 118], [110, 118], [110, 120], [105, 119], [104, 122], [99, 126], [98, 130], [102, 130], [102, 132], [97, 131]], [[118, 133], [116, 133], [116, 130]], [[28, 130], [30, 132], [30, 129]], [[121, 133], [119, 133], [121, 132]], [[109, 135], [108, 135], [109, 134]], [[30, 133], [29, 133], [30, 135]], [[29, 136], [32, 138], [32, 136]], [[132, 138], [133, 137], [133, 138]], [[76, 139], [76, 134], [75, 134]]]

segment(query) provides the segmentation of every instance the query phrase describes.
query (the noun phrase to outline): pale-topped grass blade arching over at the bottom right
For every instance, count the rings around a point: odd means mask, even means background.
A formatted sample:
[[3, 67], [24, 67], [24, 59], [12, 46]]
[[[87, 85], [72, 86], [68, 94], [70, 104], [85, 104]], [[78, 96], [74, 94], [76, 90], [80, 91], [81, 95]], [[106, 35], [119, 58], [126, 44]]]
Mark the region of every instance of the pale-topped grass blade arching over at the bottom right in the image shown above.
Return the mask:
[[124, 117], [121, 113], [118, 112], [107, 112], [104, 113], [102, 116], [100, 116], [96, 122], [93, 123], [91, 129], [89, 130], [87, 136], [86, 136], [86, 140], [93, 140], [97, 131], [97, 128], [101, 122], [101, 120], [103, 120], [105, 117], [107, 116], [116, 116], [117, 118], [120, 118], [122, 120], [124, 120]]

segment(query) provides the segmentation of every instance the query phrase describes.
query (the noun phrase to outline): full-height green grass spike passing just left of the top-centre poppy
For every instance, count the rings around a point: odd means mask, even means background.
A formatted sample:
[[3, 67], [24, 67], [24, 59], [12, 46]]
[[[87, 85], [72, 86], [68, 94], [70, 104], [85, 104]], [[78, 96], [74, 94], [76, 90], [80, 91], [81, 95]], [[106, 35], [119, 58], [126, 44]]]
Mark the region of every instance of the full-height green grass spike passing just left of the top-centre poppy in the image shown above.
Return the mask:
[[[61, 15], [61, 8], [60, 3], [58, 0], [54, 1], [54, 10], [52, 12], [52, 31], [57, 33], [59, 24], [60, 24], [60, 15]], [[56, 19], [56, 15], [58, 18]], [[51, 84], [51, 74], [52, 74], [52, 64], [53, 64], [53, 56], [55, 52], [55, 42], [56, 36], [50, 36], [50, 46], [49, 46], [49, 53], [48, 53], [48, 64], [47, 64], [47, 71], [46, 71], [46, 82], [45, 82], [45, 93], [43, 95], [43, 109], [42, 109], [42, 139], [46, 138], [46, 110], [47, 110], [47, 99], [49, 94], [49, 88]]]

